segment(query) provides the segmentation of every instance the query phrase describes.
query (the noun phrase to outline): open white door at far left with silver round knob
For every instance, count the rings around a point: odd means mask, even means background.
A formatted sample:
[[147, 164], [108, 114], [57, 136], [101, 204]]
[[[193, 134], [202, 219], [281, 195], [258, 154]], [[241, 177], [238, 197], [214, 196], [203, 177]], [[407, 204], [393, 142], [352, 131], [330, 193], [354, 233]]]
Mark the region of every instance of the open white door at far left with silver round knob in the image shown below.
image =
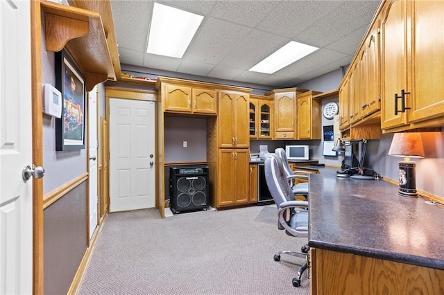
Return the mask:
[[33, 292], [29, 3], [0, 0], [0, 294]]

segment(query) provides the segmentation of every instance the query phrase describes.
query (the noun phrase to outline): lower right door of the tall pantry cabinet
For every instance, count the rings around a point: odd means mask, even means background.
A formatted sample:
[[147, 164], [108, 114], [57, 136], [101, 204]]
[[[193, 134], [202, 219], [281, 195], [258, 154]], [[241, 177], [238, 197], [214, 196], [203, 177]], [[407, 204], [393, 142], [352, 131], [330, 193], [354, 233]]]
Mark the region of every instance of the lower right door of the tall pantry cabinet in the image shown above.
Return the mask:
[[248, 150], [234, 150], [235, 173], [232, 177], [234, 181], [233, 196], [236, 204], [246, 204], [248, 203], [248, 199], [250, 199], [250, 195], [248, 194], [248, 188], [250, 188], [249, 166], [250, 157]]

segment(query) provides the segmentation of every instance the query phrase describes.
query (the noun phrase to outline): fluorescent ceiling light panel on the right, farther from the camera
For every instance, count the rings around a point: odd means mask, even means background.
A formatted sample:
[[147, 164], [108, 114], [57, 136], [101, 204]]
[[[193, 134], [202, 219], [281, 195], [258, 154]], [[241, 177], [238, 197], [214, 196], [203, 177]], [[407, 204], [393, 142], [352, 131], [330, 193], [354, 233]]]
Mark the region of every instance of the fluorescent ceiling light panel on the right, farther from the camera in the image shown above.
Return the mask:
[[266, 57], [262, 62], [259, 62], [259, 64], [253, 66], [249, 71], [271, 74], [318, 49], [319, 48], [314, 46], [291, 41], [287, 45], [278, 49], [275, 53]]

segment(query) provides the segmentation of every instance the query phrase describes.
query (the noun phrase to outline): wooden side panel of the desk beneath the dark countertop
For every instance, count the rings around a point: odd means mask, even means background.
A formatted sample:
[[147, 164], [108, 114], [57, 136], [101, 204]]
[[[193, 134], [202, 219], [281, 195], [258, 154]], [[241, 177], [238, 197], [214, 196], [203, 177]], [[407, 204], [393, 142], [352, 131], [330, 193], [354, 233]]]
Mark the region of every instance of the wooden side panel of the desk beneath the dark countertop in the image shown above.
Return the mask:
[[[311, 294], [442, 294], [444, 271], [310, 249]], [[384, 274], [384, 275], [382, 275]]]

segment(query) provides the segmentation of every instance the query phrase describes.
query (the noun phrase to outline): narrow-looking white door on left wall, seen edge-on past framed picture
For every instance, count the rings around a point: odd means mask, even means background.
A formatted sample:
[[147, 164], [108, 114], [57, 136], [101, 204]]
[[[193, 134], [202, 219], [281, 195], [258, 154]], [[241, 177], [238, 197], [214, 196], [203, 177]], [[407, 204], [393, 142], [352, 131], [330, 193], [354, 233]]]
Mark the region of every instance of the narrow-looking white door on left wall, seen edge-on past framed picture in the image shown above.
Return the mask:
[[88, 93], [89, 239], [97, 226], [97, 87]]

